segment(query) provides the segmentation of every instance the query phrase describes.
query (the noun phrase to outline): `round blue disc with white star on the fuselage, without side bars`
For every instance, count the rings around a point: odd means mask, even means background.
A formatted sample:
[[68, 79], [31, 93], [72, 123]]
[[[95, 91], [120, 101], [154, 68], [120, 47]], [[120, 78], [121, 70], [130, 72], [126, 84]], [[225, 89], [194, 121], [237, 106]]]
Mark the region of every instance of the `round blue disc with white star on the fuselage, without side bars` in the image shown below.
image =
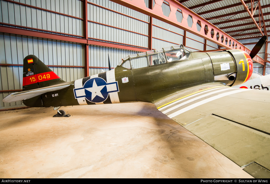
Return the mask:
[[100, 77], [89, 79], [83, 85], [85, 98], [94, 103], [103, 102], [108, 98], [107, 83]]

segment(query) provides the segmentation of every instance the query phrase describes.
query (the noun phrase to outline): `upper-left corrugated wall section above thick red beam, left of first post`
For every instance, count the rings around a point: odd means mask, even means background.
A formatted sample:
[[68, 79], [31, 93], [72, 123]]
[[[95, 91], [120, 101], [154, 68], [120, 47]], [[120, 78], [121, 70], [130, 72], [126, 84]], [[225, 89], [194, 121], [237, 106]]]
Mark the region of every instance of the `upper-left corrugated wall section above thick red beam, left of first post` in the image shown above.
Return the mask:
[[[0, 22], [18, 26], [31, 27], [56, 31], [59, 33], [83, 36], [82, 1], [79, 0], [20, 0], [25, 5], [0, 1], [1, 12]], [[42, 9], [51, 10], [48, 12], [26, 5], [36, 6]], [[58, 12], [58, 13], [57, 13]], [[61, 15], [67, 14], [74, 17]], [[29, 29], [31, 30], [31, 29]]]

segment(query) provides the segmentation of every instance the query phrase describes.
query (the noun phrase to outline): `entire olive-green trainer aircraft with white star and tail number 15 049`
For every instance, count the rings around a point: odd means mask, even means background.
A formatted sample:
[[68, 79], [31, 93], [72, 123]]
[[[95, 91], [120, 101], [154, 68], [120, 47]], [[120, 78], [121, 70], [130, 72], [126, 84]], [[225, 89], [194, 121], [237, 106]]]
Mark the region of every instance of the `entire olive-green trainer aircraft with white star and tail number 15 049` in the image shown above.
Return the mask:
[[23, 91], [4, 102], [29, 107], [151, 102], [159, 111], [230, 158], [255, 178], [270, 178], [270, 97], [232, 88], [252, 74], [242, 50], [191, 52], [183, 45], [129, 55], [107, 72], [65, 82], [36, 56], [23, 60]]

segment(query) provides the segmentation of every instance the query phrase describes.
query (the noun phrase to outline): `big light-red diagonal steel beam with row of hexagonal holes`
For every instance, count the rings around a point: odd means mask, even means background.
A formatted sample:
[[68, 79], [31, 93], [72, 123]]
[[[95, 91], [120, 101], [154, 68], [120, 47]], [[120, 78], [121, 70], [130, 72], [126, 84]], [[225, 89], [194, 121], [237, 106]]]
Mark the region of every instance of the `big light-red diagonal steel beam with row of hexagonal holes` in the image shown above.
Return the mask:
[[[155, 5], [153, 9], [147, 8], [144, 3], [144, 0], [137, 0], [137, 1], [111, 0], [111, 1], [118, 3], [120, 5], [126, 6], [127, 8], [136, 10], [138, 12], [144, 13], [145, 15], [148, 15], [150, 17], [154, 17], [158, 20], [161, 20], [173, 26], [176, 26], [180, 29], [183, 29], [184, 31], [188, 31], [192, 34], [200, 36], [224, 48], [235, 49], [233, 48], [233, 44], [229, 45], [229, 40], [230, 40], [231, 43], [234, 42], [235, 44], [237, 44], [237, 48], [240, 48], [241, 46], [242, 50], [244, 51], [247, 50], [248, 52], [250, 52], [248, 48], [246, 48], [243, 44], [238, 42], [235, 38], [231, 37], [229, 34], [225, 33], [218, 27], [214, 26], [213, 24], [211, 24], [210, 22], [208, 22], [207, 20], [205, 20], [198, 14], [194, 13], [192, 10], [188, 9], [184, 5], [180, 4], [176, 0], [166, 0], [169, 3], [170, 10], [171, 10], [170, 15], [168, 17], [163, 15], [163, 10], [161, 7], [163, 5], [163, 0], [155, 0]], [[182, 22], [178, 22], [176, 18], [176, 12], [178, 8], [181, 9], [182, 11], [182, 15], [183, 15]], [[192, 17], [192, 20], [193, 20], [193, 24], [191, 25], [191, 27], [188, 26], [188, 21], [187, 21], [188, 17]], [[201, 24], [201, 29], [199, 31], [197, 30], [197, 25], [196, 25], [197, 22]], [[204, 29], [205, 27], [208, 27], [208, 30], [209, 30], [208, 32], [206, 32], [206, 34], [205, 34], [205, 29]], [[213, 34], [211, 34], [211, 32]], [[220, 35], [218, 39], [217, 39], [217, 33], [219, 33]], [[221, 40], [221, 35], [224, 36], [224, 40]], [[227, 44], [226, 44], [225, 38], [227, 38], [228, 40]], [[254, 61], [259, 62], [259, 63], [264, 63], [264, 59], [260, 57], [256, 57], [256, 58], [258, 59]]]

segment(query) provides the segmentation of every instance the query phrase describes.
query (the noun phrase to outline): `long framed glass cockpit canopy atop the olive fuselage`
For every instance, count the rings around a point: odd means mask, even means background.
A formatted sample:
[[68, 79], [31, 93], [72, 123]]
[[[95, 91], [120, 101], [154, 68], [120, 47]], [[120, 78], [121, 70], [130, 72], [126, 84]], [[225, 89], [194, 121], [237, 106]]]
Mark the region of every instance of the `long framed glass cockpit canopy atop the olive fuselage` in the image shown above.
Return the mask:
[[184, 61], [189, 58], [191, 52], [183, 45], [176, 45], [129, 55], [122, 59], [118, 66], [127, 69], [136, 69], [175, 61]]

